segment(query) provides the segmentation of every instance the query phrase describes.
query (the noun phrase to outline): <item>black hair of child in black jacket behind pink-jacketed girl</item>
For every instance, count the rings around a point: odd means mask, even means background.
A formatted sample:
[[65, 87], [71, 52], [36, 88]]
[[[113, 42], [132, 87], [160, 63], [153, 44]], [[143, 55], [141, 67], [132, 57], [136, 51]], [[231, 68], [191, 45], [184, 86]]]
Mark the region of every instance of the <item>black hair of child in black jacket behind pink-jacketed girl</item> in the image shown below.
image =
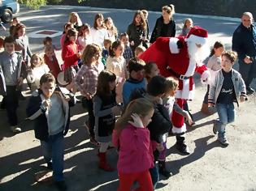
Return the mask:
[[156, 75], [148, 83], [147, 92], [150, 96], [159, 96], [165, 93], [167, 80], [162, 75]]

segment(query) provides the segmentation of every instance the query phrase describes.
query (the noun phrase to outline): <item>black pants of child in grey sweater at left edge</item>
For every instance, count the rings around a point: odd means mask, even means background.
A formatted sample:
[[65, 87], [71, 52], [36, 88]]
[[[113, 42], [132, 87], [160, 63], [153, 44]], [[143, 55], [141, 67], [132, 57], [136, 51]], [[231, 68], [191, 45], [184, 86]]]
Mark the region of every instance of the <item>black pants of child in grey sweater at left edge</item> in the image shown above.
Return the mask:
[[4, 96], [5, 106], [7, 108], [7, 117], [11, 126], [18, 125], [16, 110], [19, 105], [18, 91], [16, 86], [7, 86], [7, 96]]

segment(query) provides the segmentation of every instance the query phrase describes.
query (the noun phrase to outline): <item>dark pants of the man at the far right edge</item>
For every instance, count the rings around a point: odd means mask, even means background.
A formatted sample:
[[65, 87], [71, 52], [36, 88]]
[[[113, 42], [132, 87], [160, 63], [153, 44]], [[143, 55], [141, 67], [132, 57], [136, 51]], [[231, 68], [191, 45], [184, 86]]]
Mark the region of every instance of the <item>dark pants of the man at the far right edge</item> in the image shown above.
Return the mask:
[[249, 87], [249, 84], [256, 77], [256, 61], [246, 64], [243, 61], [239, 61], [239, 73], [242, 79], [245, 81], [245, 86]]

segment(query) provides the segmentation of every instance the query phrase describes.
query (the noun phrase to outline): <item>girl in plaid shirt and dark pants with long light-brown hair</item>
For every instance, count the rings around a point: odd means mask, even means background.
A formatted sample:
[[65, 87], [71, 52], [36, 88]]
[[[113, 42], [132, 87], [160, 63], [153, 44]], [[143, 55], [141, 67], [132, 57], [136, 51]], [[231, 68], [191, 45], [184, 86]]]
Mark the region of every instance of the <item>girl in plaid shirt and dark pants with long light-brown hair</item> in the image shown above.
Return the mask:
[[74, 79], [76, 87], [83, 96], [83, 102], [86, 105], [89, 121], [87, 128], [89, 130], [90, 142], [98, 146], [98, 142], [95, 140], [95, 117], [93, 114], [93, 96], [96, 93], [98, 74], [104, 69], [101, 62], [102, 49], [99, 45], [91, 44], [85, 47], [85, 51], [82, 55], [83, 66], [77, 72]]

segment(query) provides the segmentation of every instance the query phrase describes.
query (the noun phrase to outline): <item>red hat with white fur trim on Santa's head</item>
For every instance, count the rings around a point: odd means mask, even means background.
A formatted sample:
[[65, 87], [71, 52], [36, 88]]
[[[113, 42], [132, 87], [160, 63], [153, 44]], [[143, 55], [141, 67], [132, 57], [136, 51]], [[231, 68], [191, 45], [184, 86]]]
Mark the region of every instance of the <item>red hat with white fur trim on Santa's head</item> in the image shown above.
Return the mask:
[[190, 29], [190, 32], [187, 36], [188, 41], [193, 41], [197, 44], [204, 45], [206, 43], [206, 38], [208, 37], [208, 32], [206, 29], [194, 26]]

